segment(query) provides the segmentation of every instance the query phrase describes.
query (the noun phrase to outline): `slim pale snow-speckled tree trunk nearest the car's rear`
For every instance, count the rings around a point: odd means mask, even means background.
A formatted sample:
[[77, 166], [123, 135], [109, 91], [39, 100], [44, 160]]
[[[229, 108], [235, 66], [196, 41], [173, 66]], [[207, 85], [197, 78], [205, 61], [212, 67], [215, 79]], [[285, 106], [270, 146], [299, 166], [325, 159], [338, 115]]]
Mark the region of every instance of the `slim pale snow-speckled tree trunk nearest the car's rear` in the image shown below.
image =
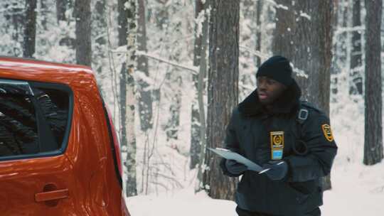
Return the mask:
[[119, 10], [119, 46], [127, 45], [127, 59], [120, 72], [120, 118], [122, 149], [127, 153], [125, 173], [127, 196], [137, 195], [136, 180], [136, 135], [134, 132], [135, 91], [134, 68], [136, 66], [137, 0], [117, 1]]

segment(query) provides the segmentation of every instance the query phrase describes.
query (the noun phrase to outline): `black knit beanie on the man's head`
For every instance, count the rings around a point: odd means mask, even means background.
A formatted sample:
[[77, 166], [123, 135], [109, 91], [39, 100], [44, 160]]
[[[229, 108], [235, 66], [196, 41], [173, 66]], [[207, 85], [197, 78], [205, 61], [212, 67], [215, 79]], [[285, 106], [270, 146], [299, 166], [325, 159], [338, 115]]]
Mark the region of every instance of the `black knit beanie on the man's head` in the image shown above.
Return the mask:
[[256, 77], [265, 76], [276, 80], [286, 86], [292, 84], [292, 68], [289, 60], [279, 55], [272, 56], [266, 60], [257, 70]]

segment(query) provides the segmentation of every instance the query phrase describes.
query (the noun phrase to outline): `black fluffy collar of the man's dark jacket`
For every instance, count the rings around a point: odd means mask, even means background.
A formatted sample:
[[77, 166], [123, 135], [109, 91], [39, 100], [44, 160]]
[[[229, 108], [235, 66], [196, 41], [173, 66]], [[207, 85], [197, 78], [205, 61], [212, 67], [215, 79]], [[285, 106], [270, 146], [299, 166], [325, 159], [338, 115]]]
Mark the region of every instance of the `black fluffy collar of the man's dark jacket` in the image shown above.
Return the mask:
[[260, 103], [257, 96], [257, 90], [253, 91], [239, 104], [240, 113], [245, 116], [253, 116], [257, 114], [293, 114], [297, 112], [299, 107], [299, 99], [302, 96], [297, 82], [294, 81], [287, 90], [285, 90], [279, 99], [272, 104], [272, 110], [267, 110]]

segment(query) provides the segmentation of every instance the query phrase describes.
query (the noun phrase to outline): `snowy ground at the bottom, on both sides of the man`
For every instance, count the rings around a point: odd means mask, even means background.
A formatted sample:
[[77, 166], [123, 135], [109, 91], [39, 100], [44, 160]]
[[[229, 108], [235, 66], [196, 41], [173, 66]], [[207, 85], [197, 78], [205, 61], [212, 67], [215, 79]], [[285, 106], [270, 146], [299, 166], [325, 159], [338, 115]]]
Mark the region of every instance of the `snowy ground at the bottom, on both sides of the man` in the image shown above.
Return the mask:
[[[359, 164], [336, 167], [331, 173], [334, 189], [324, 193], [323, 216], [381, 216], [384, 212], [384, 163], [366, 167]], [[167, 195], [127, 199], [132, 216], [235, 216], [235, 202], [213, 200], [193, 188]]]

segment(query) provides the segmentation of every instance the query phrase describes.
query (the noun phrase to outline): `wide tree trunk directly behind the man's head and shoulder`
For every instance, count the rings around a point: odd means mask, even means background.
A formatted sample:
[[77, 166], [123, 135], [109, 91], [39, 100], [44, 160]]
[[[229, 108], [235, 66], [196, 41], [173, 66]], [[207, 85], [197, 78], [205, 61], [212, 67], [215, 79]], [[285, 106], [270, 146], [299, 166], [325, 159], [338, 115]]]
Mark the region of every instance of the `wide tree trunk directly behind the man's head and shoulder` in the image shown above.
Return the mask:
[[[277, 3], [288, 9], [277, 9], [273, 53], [292, 60], [294, 68], [308, 75], [297, 77], [303, 98], [329, 114], [332, 1]], [[331, 188], [329, 176], [322, 182], [324, 190]]]

